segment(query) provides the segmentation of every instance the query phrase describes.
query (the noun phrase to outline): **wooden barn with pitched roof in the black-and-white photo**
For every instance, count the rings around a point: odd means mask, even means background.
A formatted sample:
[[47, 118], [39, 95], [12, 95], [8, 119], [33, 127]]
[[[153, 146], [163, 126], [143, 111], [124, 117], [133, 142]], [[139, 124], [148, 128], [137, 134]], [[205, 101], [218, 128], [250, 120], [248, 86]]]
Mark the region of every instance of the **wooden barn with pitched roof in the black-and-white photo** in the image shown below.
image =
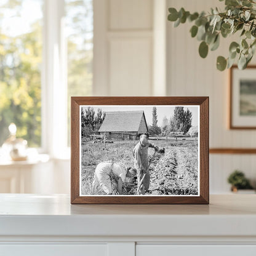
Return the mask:
[[148, 132], [144, 111], [106, 112], [98, 132], [111, 140], [137, 139], [138, 134]]

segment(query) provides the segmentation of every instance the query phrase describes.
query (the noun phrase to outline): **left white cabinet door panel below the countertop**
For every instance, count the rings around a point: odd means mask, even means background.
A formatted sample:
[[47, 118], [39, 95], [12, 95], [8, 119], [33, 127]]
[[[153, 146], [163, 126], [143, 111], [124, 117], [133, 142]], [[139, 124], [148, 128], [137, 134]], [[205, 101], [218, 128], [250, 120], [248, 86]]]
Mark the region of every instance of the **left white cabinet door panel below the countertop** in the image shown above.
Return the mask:
[[107, 256], [107, 244], [6, 244], [0, 245], [4, 256]]

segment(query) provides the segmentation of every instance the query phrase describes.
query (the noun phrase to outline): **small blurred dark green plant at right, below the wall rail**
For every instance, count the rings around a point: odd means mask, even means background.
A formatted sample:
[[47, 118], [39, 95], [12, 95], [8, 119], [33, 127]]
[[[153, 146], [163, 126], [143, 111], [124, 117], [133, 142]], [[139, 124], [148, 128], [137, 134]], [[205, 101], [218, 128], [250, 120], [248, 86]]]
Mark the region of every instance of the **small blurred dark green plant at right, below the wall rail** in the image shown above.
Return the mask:
[[234, 170], [228, 177], [228, 183], [231, 184], [231, 191], [238, 192], [238, 190], [252, 190], [249, 180], [243, 172]]

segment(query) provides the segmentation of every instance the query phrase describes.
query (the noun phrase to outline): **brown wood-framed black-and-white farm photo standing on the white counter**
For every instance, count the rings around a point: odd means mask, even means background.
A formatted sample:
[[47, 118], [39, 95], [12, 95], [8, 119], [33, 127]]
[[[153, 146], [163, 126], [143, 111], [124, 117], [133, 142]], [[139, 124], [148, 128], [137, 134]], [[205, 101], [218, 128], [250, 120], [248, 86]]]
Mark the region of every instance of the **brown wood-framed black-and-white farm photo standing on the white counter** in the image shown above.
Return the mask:
[[71, 97], [71, 204], [209, 204], [209, 98]]

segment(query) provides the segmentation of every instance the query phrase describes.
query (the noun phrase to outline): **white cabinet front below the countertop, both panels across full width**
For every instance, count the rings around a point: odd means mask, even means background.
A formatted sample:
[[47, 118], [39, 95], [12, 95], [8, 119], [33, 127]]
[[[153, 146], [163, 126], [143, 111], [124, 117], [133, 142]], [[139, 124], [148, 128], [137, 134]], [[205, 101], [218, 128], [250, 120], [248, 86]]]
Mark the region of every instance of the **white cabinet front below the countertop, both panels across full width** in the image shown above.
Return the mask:
[[135, 244], [134, 242], [108, 242], [94, 244], [24, 243], [0, 244], [1, 255], [36, 256], [255, 256], [255, 245], [175, 245], [175, 244]]

